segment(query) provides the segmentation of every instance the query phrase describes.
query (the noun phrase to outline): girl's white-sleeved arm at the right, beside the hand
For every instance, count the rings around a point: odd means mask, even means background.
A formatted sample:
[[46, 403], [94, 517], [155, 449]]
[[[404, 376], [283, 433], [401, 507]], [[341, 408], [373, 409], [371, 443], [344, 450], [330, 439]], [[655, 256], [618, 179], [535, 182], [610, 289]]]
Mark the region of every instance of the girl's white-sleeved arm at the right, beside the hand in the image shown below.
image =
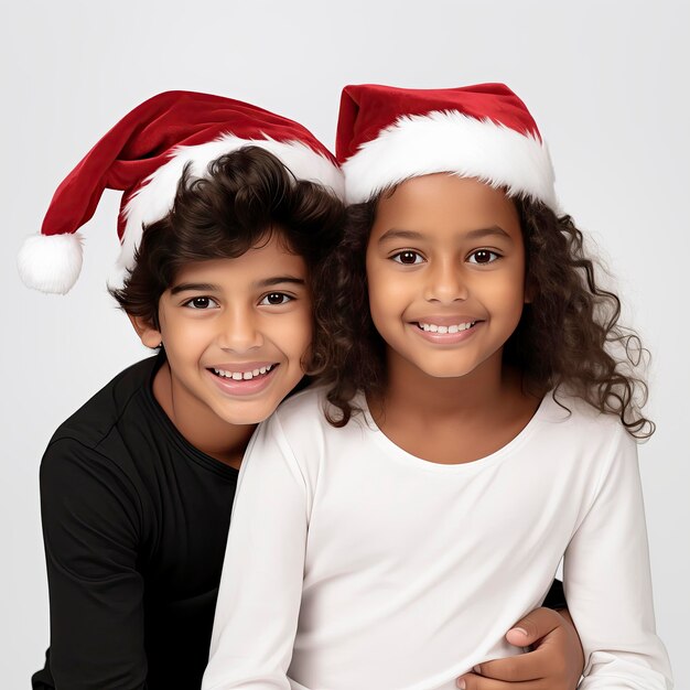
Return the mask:
[[634, 440], [617, 427], [591, 506], [568, 547], [565, 597], [585, 656], [581, 690], [667, 690], [656, 635], [642, 485]]

